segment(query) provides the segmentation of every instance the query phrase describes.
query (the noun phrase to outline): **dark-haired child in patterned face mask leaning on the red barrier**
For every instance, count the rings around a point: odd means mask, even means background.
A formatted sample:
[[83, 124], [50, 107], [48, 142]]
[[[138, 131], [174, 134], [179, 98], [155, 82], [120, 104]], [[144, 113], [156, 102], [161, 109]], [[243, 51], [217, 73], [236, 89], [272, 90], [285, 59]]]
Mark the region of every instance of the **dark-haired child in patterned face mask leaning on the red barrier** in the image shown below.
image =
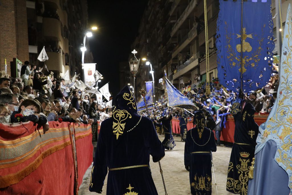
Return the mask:
[[[48, 119], [44, 115], [40, 115], [39, 113], [42, 112], [41, 105], [32, 99], [24, 100], [19, 108], [18, 111], [14, 111], [11, 115], [11, 122], [27, 122], [32, 121], [36, 122], [39, 125], [43, 125], [48, 122]], [[22, 117], [18, 120], [18, 117], [15, 117], [15, 114], [22, 114]]]

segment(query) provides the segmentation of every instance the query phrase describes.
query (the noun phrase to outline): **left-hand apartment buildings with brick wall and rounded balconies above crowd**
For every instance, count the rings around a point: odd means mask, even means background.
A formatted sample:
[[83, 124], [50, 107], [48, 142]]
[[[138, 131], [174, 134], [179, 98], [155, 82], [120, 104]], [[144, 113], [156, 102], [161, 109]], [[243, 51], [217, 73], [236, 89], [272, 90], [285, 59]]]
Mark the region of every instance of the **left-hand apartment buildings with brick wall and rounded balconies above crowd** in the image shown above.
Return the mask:
[[[8, 0], [1, 2], [0, 70], [10, 72], [13, 58], [44, 66], [56, 76], [81, 73], [81, 51], [88, 27], [86, 0]], [[88, 46], [88, 45], [87, 45]], [[48, 60], [37, 57], [45, 47]], [[88, 49], [85, 61], [92, 62]], [[81, 74], [82, 75], [82, 74]]]

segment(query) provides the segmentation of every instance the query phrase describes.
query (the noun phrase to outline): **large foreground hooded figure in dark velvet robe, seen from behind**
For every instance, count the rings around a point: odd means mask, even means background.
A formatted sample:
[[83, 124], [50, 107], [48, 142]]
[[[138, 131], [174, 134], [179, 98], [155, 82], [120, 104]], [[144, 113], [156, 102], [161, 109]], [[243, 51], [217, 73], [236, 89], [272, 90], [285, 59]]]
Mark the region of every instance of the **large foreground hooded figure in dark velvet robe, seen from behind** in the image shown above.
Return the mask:
[[102, 192], [107, 170], [107, 195], [126, 193], [157, 194], [149, 167], [164, 157], [152, 121], [137, 114], [129, 87], [115, 98], [116, 109], [111, 118], [101, 123], [89, 191]]

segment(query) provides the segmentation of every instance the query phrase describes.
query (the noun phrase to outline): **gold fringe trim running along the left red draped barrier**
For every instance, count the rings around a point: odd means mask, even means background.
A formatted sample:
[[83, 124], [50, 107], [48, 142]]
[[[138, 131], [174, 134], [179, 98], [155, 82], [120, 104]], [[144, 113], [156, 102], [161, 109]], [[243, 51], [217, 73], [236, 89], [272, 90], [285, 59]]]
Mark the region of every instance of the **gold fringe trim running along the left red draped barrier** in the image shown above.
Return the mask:
[[[83, 137], [86, 137], [90, 133], [79, 135], [79, 136], [77, 136], [76, 140], [80, 139], [80, 138], [83, 138]], [[44, 158], [46, 158], [47, 156], [51, 155], [52, 153], [54, 153], [56, 151], [64, 149], [66, 146], [69, 146], [70, 144], [71, 144], [71, 141], [68, 140], [65, 143], [61, 144], [61, 145], [53, 146], [52, 148], [50, 148], [50, 149], [44, 151], [43, 153], [41, 153], [41, 155], [38, 158], [36, 158], [34, 162], [32, 162], [29, 165], [27, 165], [27, 167], [25, 167], [21, 171], [18, 171], [16, 173], [12, 173], [12, 174], [8, 174], [8, 175], [5, 175], [5, 176], [0, 176], [0, 188], [5, 188], [5, 187], [8, 187], [8, 186], [10, 186], [12, 184], [17, 184], [22, 179], [24, 179], [26, 176], [28, 176], [30, 173], [35, 171], [39, 167], [39, 165], [41, 165], [41, 163], [43, 162]]]

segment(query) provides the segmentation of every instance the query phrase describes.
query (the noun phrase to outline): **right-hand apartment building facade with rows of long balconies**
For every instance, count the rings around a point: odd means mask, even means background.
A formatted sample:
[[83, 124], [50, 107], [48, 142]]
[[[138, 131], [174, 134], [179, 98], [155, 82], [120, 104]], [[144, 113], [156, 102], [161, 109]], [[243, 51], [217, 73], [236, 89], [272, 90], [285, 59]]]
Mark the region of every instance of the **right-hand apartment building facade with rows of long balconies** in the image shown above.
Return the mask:
[[[281, 1], [283, 25], [286, 20], [288, 4], [292, 0]], [[275, 0], [272, 0], [272, 16], [275, 15]], [[209, 78], [216, 78], [216, 28], [219, 13], [219, 1], [207, 1]], [[276, 16], [278, 17], [278, 16]], [[276, 24], [276, 18], [273, 19]], [[283, 29], [284, 30], [284, 29]], [[276, 25], [274, 25], [276, 37]], [[277, 39], [274, 40], [277, 46]], [[164, 86], [161, 78], [164, 70], [168, 79], [177, 89], [186, 84], [198, 87], [206, 81], [206, 50], [203, 0], [150, 0], [140, 23], [138, 36], [132, 48], [147, 56], [154, 67], [156, 96], [162, 97]], [[274, 54], [277, 54], [275, 47]], [[138, 54], [139, 54], [138, 53]], [[149, 67], [141, 63], [136, 87], [143, 87], [144, 82], [152, 80]]]

